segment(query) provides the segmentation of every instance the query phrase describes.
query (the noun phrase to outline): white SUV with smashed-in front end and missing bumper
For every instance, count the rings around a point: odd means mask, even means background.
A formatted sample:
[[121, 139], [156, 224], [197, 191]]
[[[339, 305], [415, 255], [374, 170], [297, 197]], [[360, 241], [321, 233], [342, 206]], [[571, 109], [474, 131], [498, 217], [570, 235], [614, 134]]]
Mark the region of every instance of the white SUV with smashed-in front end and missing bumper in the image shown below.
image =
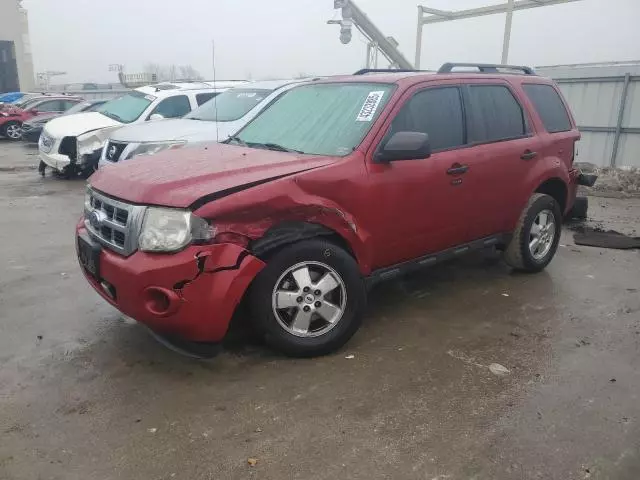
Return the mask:
[[77, 113], [47, 123], [39, 142], [40, 171], [47, 166], [67, 176], [98, 168], [105, 141], [123, 125], [178, 118], [243, 81], [159, 83], [108, 101], [97, 112]]

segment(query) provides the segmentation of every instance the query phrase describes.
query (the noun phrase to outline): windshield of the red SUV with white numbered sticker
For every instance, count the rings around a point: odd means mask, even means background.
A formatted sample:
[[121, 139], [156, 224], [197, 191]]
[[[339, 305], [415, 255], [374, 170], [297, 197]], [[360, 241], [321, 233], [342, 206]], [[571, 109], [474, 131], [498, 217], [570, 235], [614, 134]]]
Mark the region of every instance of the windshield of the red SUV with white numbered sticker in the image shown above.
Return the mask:
[[232, 138], [250, 147], [344, 156], [367, 134], [393, 85], [303, 85], [285, 93]]

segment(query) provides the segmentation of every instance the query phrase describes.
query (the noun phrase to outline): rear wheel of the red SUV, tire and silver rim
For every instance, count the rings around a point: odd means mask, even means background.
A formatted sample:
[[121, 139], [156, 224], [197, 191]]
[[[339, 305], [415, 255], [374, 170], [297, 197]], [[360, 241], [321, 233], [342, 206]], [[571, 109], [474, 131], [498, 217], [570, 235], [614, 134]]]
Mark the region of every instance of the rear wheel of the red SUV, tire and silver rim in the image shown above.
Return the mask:
[[505, 261], [523, 272], [543, 270], [558, 249], [561, 229], [562, 213], [558, 202], [543, 193], [533, 194], [507, 246]]

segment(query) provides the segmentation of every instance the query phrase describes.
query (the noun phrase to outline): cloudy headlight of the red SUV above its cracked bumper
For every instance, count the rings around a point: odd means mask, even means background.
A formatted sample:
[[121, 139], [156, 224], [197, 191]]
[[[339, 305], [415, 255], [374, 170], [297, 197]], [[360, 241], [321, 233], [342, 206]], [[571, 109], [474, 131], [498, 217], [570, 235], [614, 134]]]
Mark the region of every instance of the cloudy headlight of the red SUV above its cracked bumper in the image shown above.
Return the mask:
[[175, 252], [213, 236], [209, 223], [188, 210], [148, 207], [138, 246], [144, 252]]

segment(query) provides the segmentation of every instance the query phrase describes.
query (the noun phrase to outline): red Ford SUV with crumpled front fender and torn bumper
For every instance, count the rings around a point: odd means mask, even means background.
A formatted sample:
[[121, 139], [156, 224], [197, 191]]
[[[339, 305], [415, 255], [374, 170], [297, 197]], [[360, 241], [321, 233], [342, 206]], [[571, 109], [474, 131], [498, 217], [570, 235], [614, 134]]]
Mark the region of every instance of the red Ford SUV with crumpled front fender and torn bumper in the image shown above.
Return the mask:
[[460, 66], [314, 81], [225, 144], [100, 170], [86, 278], [164, 338], [219, 342], [245, 302], [272, 345], [313, 356], [356, 332], [377, 280], [489, 246], [542, 270], [589, 180], [580, 134], [551, 80]]

